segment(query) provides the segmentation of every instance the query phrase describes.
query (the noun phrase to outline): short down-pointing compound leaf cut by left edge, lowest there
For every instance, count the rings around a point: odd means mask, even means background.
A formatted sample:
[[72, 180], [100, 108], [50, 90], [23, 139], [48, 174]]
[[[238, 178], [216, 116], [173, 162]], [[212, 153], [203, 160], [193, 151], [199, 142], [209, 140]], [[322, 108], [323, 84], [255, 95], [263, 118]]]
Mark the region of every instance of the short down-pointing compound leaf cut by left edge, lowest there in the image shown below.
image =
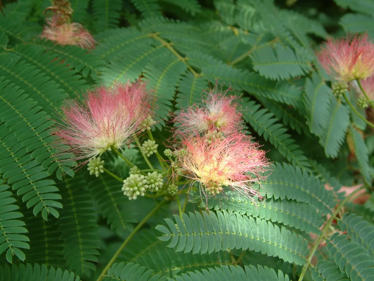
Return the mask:
[[13, 256], [24, 261], [25, 254], [21, 249], [29, 249], [27, 243], [29, 238], [24, 235], [27, 229], [25, 223], [19, 220], [23, 214], [15, 211], [19, 207], [13, 203], [16, 202], [12, 196], [12, 192], [7, 190], [4, 180], [0, 179], [0, 254], [5, 252], [6, 260], [13, 262]]

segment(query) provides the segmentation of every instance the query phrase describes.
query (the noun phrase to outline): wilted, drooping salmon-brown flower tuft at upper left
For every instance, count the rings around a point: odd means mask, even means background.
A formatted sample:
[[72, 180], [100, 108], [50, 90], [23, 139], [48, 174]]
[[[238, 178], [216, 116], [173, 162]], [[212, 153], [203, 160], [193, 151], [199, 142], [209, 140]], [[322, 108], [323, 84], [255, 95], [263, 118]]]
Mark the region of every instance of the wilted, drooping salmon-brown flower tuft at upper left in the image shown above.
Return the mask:
[[54, 41], [60, 45], [76, 45], [83, 49], [93, 49], [95, 40], [92, 35], [79, 23], [68, 23], [58, 25], [58, 16], [47, 20], [41, 38]]

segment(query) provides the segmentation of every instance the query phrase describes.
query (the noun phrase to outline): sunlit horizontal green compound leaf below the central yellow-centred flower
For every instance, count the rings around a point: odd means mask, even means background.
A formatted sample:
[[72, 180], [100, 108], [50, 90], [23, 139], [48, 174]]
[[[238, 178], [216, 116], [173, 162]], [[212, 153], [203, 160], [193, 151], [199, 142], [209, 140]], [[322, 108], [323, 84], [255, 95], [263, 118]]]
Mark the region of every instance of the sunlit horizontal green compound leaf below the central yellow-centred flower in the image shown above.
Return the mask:
[[308, 252], [306, 241], [271, 222], [226, 211], [217, 211], [217, 214], [204, 211], [202, 214], [196, 212], [182, 216], [183, 220], [174, 215], [177, 224], [165, 219], [168, 228], [163, 225], [156, 227], [163, 233], [159, 239], [171, 240], [168, 247], [176, 247], [175, 251], [203, 254], [241, 248], [278, 256], [299, 265], [305, 263], [304, 257]]

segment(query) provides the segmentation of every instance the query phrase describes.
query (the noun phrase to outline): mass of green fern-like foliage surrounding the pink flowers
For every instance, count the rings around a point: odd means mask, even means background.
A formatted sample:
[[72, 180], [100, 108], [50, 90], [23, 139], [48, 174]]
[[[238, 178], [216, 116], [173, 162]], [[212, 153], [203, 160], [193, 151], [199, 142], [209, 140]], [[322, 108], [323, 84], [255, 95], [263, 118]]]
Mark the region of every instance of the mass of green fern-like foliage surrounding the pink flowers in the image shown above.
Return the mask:
[[[372, 198], [346, 204], [335, 231], [321, 228], [337, 215], [342, 185], [372, 186], [374, 137], [334, 98], [315, 56], [329, 35], [373, 37], [373, 1], [70, 2], [98, 42], [92, 51], [37, 37], [49, 0], [2, 1], [0, 280], [95, 280], [156, 206], [129, 201], [106, 175], [74, 175], [76, 163], [58, 161], [49, 135], [64, 99], [140, 75], [158, 97], [160, 146], [169, 113], [218, 79], [243, 96], [248, 130], [273, 171], [262, 201], [226, 192], [199, 207], [190, 194], [183, 220], [166, 204], [103, 280], [299, 280], [313, 254], [304, 280], [374, 280]], [[142, 165], [134, 149], [126, 154]], [[117, 158], [105, 160], [128, 174]], [[311, 235], [325, 240], [312, 254]]]

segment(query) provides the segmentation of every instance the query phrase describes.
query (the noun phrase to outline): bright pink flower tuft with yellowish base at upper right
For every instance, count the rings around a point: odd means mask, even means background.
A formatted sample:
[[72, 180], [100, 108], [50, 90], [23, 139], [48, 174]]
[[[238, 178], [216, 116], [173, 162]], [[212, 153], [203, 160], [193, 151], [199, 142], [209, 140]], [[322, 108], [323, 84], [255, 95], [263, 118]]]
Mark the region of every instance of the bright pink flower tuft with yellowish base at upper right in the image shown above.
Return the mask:
[[365, 79], [374, 74], [374, 44], [366, 34], [329, 39], [319, 53], [319, 61], [335, 80]]

